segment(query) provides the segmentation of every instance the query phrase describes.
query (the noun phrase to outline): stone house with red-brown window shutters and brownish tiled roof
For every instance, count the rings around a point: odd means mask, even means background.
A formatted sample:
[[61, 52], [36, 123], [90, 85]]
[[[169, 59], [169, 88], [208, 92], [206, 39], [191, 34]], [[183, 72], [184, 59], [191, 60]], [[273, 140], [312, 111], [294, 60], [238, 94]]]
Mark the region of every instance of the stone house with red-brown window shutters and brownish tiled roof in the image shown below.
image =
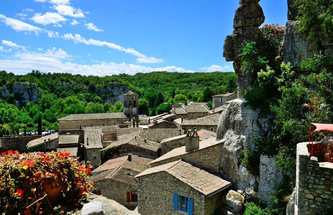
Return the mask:
[[138, 205], [138, 182], [134, 176], [147, 169], [152, 159], [137, 155], [114, 158], [94, 171], [87, 180], [94, 182], [98, 195], [113, 199], [124, 206]]

